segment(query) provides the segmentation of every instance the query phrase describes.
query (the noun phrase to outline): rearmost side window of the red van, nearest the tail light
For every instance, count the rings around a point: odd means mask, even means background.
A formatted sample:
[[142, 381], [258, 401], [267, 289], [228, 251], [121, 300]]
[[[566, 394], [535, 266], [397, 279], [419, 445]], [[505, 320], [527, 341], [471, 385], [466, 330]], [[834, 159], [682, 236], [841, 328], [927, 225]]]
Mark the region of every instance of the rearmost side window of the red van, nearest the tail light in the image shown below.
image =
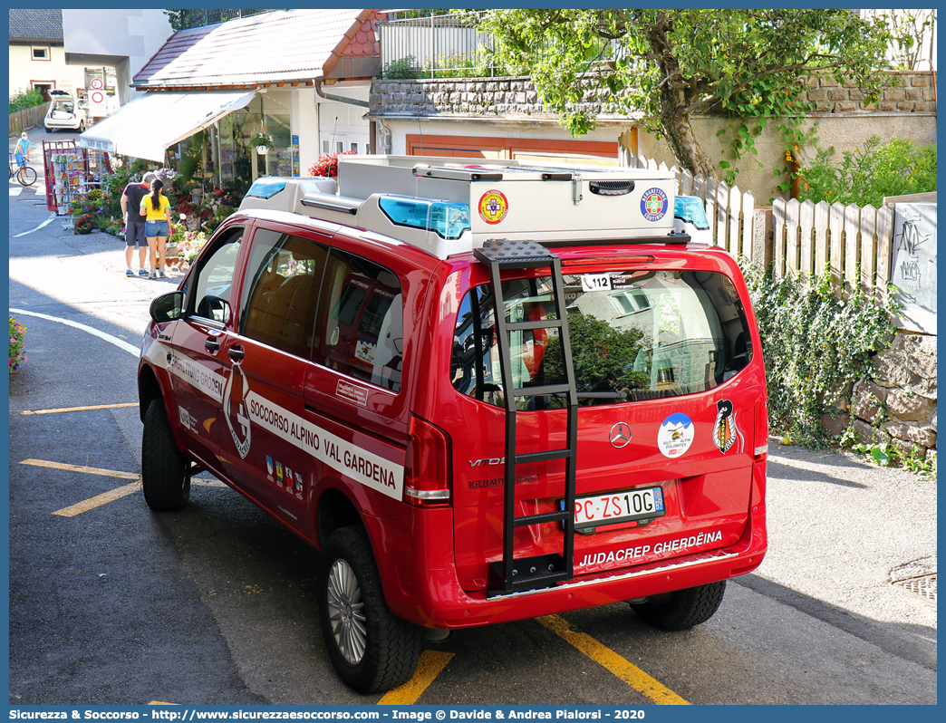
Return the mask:
[[397, 276], [333, 250], [325, 269], [315, 361], [399, 392], [404, 300]]

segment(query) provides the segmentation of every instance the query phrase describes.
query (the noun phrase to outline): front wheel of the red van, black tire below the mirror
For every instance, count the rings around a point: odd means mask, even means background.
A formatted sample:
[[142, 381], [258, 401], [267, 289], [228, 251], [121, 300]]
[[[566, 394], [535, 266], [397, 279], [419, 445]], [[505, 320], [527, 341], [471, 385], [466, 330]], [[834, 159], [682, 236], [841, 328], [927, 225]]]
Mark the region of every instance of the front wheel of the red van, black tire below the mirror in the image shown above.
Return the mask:
[[187, 459], [174, 443], [164, 400], [152, 399], [141, 439], [141, 484], [152, 510], [174, 512], [187, 506], [190, 477], [186, 470]]

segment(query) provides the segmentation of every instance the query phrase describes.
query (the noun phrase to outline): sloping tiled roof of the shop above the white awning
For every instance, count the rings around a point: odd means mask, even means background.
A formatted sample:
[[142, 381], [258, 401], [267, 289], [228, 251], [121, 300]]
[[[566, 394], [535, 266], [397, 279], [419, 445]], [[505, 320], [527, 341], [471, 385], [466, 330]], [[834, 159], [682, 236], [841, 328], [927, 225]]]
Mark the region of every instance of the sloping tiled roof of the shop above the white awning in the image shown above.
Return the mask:
[[378, 57], [377, 11], [276, 10], [181, 30], [139, 71], [139, 88], [246, 85], [327, 76], [340, 61]]

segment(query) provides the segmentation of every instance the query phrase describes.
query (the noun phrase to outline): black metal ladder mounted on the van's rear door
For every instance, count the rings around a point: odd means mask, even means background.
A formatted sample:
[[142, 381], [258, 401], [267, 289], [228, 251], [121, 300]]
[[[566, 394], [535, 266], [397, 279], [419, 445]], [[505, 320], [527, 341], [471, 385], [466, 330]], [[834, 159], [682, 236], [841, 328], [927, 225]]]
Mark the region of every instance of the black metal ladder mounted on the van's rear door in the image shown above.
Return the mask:
[[[575, 507], [575, 453], [578, 446], [578, 396], [575, 375], [571, 365], [568, 312], [565, 309], [565, 284], [562, 280], [561, 259], [535, 241], [511, 241], [506, 238], [490, 239], [474, 256], [486, 264], [493, 289], [493, 313], [499, 347], [499, 368], [503, 398], [506, 405], [506, 442], [502, 522], [502, 560], [490, 564], [489, 592], [491, 596], [512, 592], [538, 590], [573, 577], [574, 507]], [[502, 272], [509, 269], [548, 268], [552, 278], [552, 296], [555, 319], [526, 322], [506, 322], [502, 298]], [[565, 382], [546, 386], [513, 388], [512, 357], [509, 342], [511, 331], [557, 329], [562, 345]], [[565, 395], [568, 399], [568, 431], [566, 447], [528, 454], [516, 453], [516, 400], [519, 397]], [[564, 508], [560, 511], [516, 517], [516, 467], [534, 462], [561, 459], [565, 461]], [[562, 554], [514, 556], [514, 538], [518, 527], [545, 522], [561, 522], [564, 528]]]

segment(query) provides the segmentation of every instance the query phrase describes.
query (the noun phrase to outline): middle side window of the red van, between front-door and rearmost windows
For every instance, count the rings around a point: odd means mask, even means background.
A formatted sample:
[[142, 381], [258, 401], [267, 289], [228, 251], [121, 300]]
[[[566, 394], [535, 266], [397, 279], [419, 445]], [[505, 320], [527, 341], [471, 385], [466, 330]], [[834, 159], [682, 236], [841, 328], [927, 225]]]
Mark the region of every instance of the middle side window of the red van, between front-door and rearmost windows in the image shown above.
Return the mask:
[[240, 299], [239, 333], [308, 359], [327, 256], [321, 243], [257, 229]]

